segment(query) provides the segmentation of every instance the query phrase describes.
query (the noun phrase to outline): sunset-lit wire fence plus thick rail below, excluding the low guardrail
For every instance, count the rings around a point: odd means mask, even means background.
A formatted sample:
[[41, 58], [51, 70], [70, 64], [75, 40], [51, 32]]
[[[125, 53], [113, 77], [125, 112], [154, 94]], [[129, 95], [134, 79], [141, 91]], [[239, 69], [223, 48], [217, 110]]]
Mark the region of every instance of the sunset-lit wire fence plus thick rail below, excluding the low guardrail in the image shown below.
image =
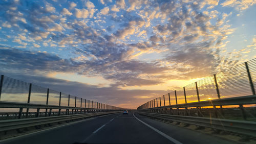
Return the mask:
[[[137, 109], [152, 113], [256, 121], [255, 81], [256, 59], [252, 59], [164, 94]], [[243, 101], [246, 95], [251, 95], [249, 103]], [[224, 103], [230, 98], [237, 98], [236, 103]]]

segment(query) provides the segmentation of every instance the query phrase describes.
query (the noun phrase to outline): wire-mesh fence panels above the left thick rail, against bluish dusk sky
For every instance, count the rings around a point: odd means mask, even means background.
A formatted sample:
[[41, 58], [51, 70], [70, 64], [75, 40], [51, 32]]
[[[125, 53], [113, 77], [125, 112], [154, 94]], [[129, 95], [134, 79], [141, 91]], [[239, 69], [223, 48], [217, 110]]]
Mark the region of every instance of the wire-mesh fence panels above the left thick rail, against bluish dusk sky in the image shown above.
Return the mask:
[[[1, 75], [0, 79], [0, 102], [16, 102], [108, 110], [123, 109], [108, 104], [82, 99], [67, 93], [12, 79], [4, 75]], [[10, 109], [2, 109], [2, 112], [6, 110], [11, 112]]]

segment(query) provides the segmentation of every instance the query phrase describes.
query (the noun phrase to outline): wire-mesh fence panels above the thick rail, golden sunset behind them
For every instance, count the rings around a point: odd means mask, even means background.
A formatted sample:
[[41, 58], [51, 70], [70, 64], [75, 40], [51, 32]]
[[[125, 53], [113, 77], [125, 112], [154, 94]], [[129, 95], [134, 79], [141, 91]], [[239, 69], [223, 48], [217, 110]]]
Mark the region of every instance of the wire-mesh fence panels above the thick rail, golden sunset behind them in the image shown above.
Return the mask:
[[255, 95], [256, 59], [170, 91], [139, 106], [138, 110]]

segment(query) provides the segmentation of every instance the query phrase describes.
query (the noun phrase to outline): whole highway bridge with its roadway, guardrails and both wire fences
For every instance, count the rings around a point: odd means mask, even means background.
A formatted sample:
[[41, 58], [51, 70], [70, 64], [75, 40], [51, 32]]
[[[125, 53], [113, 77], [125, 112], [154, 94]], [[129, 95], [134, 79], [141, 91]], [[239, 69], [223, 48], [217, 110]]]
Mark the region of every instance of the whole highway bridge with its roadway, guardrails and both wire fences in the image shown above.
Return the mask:
[[255, 143], [255, 82], [253, 59], [135, 110], [2, 75], [0, 142]]

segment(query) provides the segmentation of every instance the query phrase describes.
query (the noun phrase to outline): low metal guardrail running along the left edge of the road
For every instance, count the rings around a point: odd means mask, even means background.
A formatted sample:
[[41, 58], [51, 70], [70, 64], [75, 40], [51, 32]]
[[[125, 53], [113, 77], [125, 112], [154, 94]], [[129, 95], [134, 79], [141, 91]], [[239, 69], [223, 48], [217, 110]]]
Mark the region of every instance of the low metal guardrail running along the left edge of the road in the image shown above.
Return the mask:
[[27, 128], [32, 126], [51, 124], [56, 122], [71, 121], [73, 119], [88, 118], [88, 117], [117, 113], [117, 112], [120, 112], [120, 111], [3, 120], [3, 121], [0, 121], [0, 132]]

